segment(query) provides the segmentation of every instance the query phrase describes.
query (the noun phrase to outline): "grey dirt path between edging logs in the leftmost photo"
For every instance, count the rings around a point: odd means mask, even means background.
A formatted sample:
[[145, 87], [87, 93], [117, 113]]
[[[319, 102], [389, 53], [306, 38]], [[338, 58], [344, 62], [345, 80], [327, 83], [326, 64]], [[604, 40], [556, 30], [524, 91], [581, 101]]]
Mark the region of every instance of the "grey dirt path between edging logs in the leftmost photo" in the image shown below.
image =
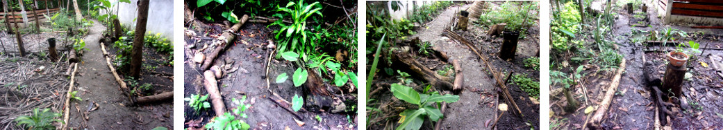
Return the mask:
[[[93, 27], [85, 37], [85, 53], [82, 64], [78, 66], [75, 88], [83, 101], [72, 101], [71, 116], [68, 122], [71, 128], [81, 128], [83, 122], [80, 113], [86, 111], [90, 103], [98, 103], [98, 110], [91, 111], [87, 121], [88, 129], [153, 129], [156, 126], [172, 128], [172, 103], [154, 106], [130, 106], [127, 96], [121, 93], [111, 70], [100, 50], [99, 39], [106, 30], [100, 22], [93, 21]], [[107, 50], [108, 48], [106, 48]]]

